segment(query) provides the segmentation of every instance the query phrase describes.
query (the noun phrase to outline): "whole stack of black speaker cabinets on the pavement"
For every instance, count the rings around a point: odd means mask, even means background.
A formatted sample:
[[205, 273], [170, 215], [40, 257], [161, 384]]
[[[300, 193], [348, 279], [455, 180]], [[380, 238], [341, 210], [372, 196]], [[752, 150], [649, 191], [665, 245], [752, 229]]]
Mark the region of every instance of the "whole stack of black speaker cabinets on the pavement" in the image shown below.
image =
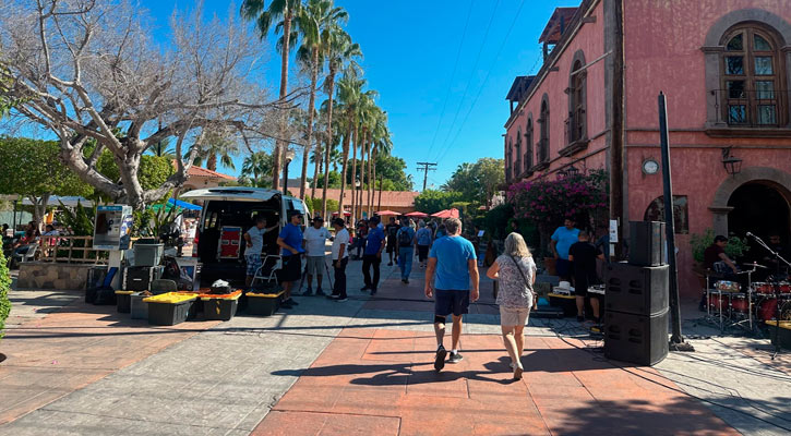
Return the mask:
[[664, 264], [664, 222], [630, 222], [628, 263], [604, 274], [604, 355], [655, 365], [668, 355], [670, 268]]

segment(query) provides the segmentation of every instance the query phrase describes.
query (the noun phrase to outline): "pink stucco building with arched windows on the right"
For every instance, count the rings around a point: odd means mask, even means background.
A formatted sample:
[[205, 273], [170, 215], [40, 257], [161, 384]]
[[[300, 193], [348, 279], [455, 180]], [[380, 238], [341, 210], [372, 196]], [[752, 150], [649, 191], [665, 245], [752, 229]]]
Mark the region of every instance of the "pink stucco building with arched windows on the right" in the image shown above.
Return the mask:
[[[628, 0], [622, 10], [618, 3], [585, 0], [555, 10], [540, 37], [543, 66], [517, 77], [507, 96], [506, 178], [614, 162], [622, 220], [657, 219], [663, 92], [681, 292], [697, 295], [691, 234], [779, 233], [789, 243], [791, 7], [788, 0]], [[735, 165], [726, 166], [728, 159]], [[751, 255], [763, 253], [754, 246]]]

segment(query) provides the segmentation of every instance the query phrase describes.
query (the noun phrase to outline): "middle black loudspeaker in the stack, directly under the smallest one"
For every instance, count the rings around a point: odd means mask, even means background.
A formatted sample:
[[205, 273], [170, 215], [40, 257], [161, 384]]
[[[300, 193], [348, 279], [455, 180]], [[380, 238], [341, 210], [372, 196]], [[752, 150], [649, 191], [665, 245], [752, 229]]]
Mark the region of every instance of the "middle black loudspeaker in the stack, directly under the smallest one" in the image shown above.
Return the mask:
[[604, 308], [634, 315], [654, 315], [668, 310], [670, 267], [614, 263], [604, 271]]

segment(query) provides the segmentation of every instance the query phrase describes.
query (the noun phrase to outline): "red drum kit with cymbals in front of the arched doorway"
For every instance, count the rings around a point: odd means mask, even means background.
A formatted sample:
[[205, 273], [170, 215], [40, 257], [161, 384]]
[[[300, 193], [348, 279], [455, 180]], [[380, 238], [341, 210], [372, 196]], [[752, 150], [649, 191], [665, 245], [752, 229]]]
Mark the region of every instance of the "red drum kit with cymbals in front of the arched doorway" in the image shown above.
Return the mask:
[[789, 277], [776, 277], [775, 282], [752, 281], [753, 272], [769, 268], [755, 263], [743, 266], [752, 268], [738, 272], [747, 275], [747, 288], [744, 290], [736, 281], [717, 280], [712, 283], [709, 277], [706, 278], [706, 318], [720, 331], [735, 326], [753, 331], [777, 315], [781, 320], [791, 320]]

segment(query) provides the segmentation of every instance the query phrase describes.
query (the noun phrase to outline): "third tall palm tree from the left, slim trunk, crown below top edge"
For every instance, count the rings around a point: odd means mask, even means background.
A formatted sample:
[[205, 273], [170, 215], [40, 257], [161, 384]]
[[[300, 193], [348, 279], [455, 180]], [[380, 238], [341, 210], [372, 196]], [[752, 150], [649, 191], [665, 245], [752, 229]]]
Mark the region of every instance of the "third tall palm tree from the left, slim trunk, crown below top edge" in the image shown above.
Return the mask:
[[[333, 95], [335, 94], [335, 75], [338, 73], [340, 68], [347, 62], [353, 62], [353, 58], [362, 57], [360, 46], [356, 43], [351, 43], [351, 37], [346, 33], [337, 22], [326, 23], [326, 36], [327, 44], [325, 46], [325, 57], [329, 63], [327, 78], [324, 82], [325, 90], [327, 93], [327, 141], [333, 138]], [[324, 150], [324, 187], [322, 193], [322, 214], [327, 216], [327, 183], [328, 183], [328, 169], [329, 169], [329, 150], [332, 147], [327, 147]]]

